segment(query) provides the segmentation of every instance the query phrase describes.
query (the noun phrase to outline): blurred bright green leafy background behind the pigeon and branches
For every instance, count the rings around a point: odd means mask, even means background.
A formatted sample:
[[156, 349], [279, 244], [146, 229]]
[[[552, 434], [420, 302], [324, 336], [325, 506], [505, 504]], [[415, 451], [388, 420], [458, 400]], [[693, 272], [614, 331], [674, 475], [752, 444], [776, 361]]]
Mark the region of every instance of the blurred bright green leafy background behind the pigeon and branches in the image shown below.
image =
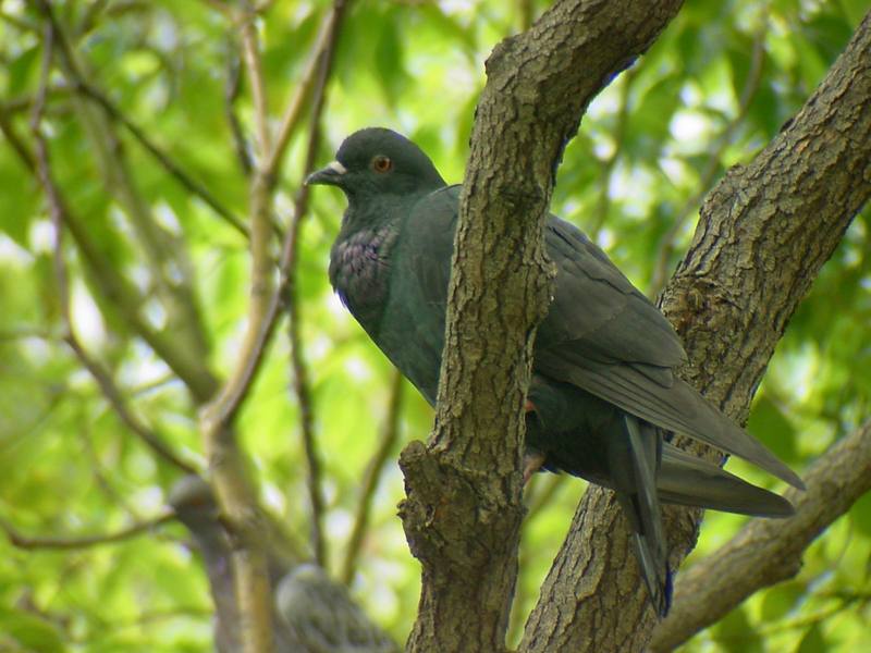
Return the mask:
[[[238, 29], [222, 2], [54, 2], [88, 81], [132, 123], [236, 215], [246, 176], [228, 120], [225, 89], [237, 65]], [[449, 181], [463, 175], [483, 61], [522, 29], [542, 2], [349, 3], [327, 106], [319, 162], [349, 132], [396, 128], [433, 158]], [[690, 0], [648, 54], [593, 102], [568, 146], [553, 210], [593, 234], [651, 296], [695, 227], [703, 194], [724, 171], [760, 150], [809, 97], [843, 49], [868, 0], [830, 2]], [[277, 123], [315, 47], [327, 2], [262, 5], [268, 107]], [[63, 341], [53, 268], [53, 227], [36, 177], [10, 134], [32, 143], [28, 119], [40, 78], [44, 23], [28, 3], [0, 1], [0, 525], [37, 542], [0, 538], [0, 650], [203, 651], [211, 600], [184, 529], [172, 521], [115, 543], [39, 546], [116, 532], [165, 512], [180, 470], [154, 455], [119, 418]], [[250, 134], [243, 78], [233, 103]], [[248, 297], [247, 241], [169, 174], [131, 133], [114, 125], [107, 145], [98, 108], [57, 69], [44, 132], [52, 173], [91, 242], [125, 275], [156, 331], [188, 346], [225, 378], [235, 364]], [[309, 122], [307, 122], [309, 121]], [[292, 136], [277, 220], [287, 224], [304, 174], [310, 116]], [[273, 127], [275, 125], [273, 124]], [[119, 167], [123, 161], [123, 167]], [[165, 234], [157, 259], [135, 226], [140, 210]], [[361, 480], [383, 442], [393, 371], [332, 295], [326, 267], [344, 199], [314, 194], [298, 247], [303, 356], [326, 496], [328, 567], [340, 577], [361, 504]], [[173, 449], [206, 467], [186, 387], [133, 333], [68, 237], [71, 316], [78, 338], [128, 404]], [[161, 270], [161, 267], [163, 269]], [[201, 329], [179, 320], [161, 274], [191, 283]], [[133, 296], [128, 299], [134, 299]], [[789, 324], [757, 395], [751, 432], [799, 472], [871, 415], [871, 214], [866, 210]], [[238, 422], [263, 503], [300, 539], [311, 530], [300, 405], [291, 389], [282, 328]], [[192, 334], [203, 342], [187, 343]], [[403, 442], [426, 436], [431, 411], [401, 386], [398, 442], [377, 475], [371, 514], [349, 579], [354, 596], [398, 641], [417, 607], [418, 565], [405, 545], [396, 503]], [[771, 479], [729, 463], [762, 484]], [[512, 637], [565, 534], [585, 484], [539, 476], [527, 491], [522, 577]], [[715, 554], [740, 527], [709, 514], [688, 565]], [[21, 542], [19, 544], [22, 544]], [[807, 552], [794, 579], [758, 593], [686, 644], [686, 651], [851, 651], [871, 642], [871, 497]]]

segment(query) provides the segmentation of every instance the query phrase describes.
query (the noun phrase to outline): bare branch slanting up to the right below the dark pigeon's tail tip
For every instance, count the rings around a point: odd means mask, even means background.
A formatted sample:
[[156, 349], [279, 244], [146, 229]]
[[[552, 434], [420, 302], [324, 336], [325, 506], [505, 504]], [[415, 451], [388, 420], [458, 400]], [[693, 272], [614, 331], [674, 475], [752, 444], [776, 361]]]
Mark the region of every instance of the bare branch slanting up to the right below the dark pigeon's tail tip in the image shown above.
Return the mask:
[[753, 592], [792, 578], [806, 549], [871, 490], [871, 421], [841, 439], [805, 475], [807, 492], [790, 491], [795, 517], [756, 519], [677, 582], [668, 617], [652, 651], [672, 651]]

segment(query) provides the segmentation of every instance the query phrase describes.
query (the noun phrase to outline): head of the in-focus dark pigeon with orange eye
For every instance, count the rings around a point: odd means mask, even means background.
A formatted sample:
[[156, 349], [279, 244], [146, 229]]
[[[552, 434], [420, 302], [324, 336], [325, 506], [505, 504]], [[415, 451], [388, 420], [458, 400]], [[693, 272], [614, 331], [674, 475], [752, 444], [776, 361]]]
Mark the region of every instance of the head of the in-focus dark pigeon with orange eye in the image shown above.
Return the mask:
[[307, 185], [338, 186], [353, 202], [372, 195], [410, 195], [445, 185], [429, 157], [405, 136], [368, 127], [345, 138], [335, 161], [312, 173]]

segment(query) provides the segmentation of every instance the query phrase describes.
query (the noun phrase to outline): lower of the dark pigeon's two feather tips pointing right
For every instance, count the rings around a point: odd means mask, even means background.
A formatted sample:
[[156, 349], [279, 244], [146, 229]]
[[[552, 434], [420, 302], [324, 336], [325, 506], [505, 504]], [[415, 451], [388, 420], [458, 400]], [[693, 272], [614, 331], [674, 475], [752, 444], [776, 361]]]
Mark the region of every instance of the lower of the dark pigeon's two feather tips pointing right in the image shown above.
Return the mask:
[[755, 517], [789, 517], [795, 514], [793, 505], [783, 496], [751, 485], [667, 442], [662, 451], [657, 489], [665, 503]]

